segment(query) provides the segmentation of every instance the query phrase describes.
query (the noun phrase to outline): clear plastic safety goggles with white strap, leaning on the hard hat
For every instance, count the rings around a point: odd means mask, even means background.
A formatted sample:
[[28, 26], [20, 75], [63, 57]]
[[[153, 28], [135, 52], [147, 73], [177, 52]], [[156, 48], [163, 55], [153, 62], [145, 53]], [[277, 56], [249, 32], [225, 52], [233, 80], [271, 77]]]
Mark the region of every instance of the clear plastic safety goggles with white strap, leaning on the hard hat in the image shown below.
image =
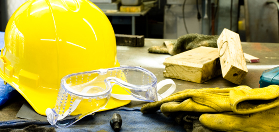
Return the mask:
[[[157, 91], [172, 84], [164, 93]], [[127, 94], [112, 94], [115, 86]], [[66, 75], [61, 79], [54, 108], [46, 110], [47, 120], [57, 127], [68, 127], [83, 117], [104, 108], [109, 98], [154, 102], [172, 94], [176, 89], [171, 79], [157, 84], [150, 71], [133, 66], [99, 69]]]

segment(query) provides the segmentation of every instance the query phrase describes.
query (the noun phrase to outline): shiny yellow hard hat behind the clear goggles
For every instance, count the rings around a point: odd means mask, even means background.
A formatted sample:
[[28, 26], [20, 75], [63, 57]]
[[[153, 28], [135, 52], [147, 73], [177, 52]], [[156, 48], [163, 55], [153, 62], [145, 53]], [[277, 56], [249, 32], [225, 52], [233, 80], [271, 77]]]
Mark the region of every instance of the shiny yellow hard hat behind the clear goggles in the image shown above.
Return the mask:
[[[0, 56], [0, 77], [34, 110], [55, 106], [62, 77], [119, 66], [107, 16], [87, 0], [29, 0], [11, 16]], [[123, 88], [112, 93], [127, 94]], [[105, 109], [130, 100], [110, 98]]]

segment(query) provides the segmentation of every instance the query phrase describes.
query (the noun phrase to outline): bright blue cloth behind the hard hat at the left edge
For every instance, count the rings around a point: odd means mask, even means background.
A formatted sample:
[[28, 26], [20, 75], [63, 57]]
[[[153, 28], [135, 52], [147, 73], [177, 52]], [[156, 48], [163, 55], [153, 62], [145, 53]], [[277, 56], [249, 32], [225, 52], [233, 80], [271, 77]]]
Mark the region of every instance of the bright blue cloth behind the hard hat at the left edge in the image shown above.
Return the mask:
[[[4, 46], [4, 34], [5, 32], [0, 32], [0, 49]], [[17, 95], [19, 95], [17, 90], [15, 90], [10, 84], [5, 85], [0, 78], [0, 106]]]

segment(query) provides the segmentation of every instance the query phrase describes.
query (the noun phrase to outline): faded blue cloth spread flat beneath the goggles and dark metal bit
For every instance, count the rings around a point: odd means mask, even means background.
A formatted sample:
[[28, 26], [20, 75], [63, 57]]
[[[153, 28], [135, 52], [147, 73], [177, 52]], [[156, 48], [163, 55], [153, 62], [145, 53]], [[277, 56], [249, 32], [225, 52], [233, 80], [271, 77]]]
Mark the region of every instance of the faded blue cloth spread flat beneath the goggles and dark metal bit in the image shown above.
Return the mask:
[[[86, 116], [80, 121], [74, 123], [68, 128], [56, 128], [57, 132], [96, 132], [99, 130], [105, 130], [108, 132], [114, 132], [109, 121], [114, 113], [120, 114], [122, 118], [121, 131], [126, 132], [161, 132], [161, 131], [185, 131], [183, 126], [178, 125], [174, 118], [166, 117], [161, 112], [154, 114], [142, 114], [140, 107], [127, 108], [121, 107], [114, 110], [108, 110], [103, 112], [97, 112], [94, 116]], [[12, 121], [0, 121], [0, 128], [23, 128], [31, 124], [44, 125], [46, 127], [52, 127], [46, 121], [34, 121], [34, 120], [12, 120]], [[47, 125], [48, 124], [48, 125]]]

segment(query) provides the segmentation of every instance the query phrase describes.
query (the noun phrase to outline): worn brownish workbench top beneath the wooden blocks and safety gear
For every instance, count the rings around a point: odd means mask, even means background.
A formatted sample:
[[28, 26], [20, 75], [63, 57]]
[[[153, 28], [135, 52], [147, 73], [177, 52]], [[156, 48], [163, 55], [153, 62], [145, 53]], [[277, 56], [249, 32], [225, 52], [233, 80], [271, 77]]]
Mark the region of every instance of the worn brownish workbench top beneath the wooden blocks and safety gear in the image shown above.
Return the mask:
[[[145, 39], [144, 47], [117, 46], [117, 59], [120, 65], [141, 66], [151, 71], [156, 75], [158, 82], [164, 79], [168, 79], [163, 76], [163, 71], [165, 70], [163, 62], [167, 57], [170, 57], [171, 55], [154, 54], [148, 53], [147, 51], [150, 46], [162, 45], [164, 41], [166, 41], [166, 39]], [[278, 46], [279, 44], [277, 43], [242, 42], [243, 51], [260, 58], [260, 62], [247, 63], [248, 74], [241, 85], [247, 85], [251, 88], [259, 87], [259, 80], [262, 72], [266, 69], [270, 69], [279, 65]], [[202, 84], [182, 81], [178, 79], [173, 80], [177, 86], [175, 92], [184, 89], [199, 89], [210, 87], [226, 88], [237, 86], [236, 84], [223, 79], [222, 75], [210, 79]], [[164, 90], [164, 88], [162, 88], [162, 90]], [[161, 91], [159, 91], [159, 93], [161, 93]], [[13, 98], [12, 100], [6, 102], [6, 104], [1, 106], [0, 108], [0, 121], [19, 119], [15, 116], [24, 102], [25, 99], [22, 96]], [[130, 108], [135, 106], [141, 107], [143, 104], [146, 104], [146, 102], [132, 101], [126, 106]]]

